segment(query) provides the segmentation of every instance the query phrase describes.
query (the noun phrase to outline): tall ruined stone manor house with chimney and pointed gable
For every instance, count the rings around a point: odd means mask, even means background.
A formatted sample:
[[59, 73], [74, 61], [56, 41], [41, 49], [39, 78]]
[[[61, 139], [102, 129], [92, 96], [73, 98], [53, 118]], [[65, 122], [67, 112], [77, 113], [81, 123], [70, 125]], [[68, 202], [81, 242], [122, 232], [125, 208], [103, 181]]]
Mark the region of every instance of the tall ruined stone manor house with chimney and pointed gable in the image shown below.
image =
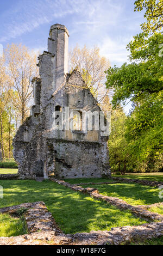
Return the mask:
[[68, 74], [68, 37], [65, 26], [51, 26], [48, 51], [39, 56], [39, 77], [32, 81], [34, 106], [13, 141], [20, 179], [110, 176], [108, 136], [102, 130], [83, 130], [82, 114], [77, 117], [81, 129], [53, 126], [55, 111], [63, 118], [66, 109], [101, 111], [80, 72]]

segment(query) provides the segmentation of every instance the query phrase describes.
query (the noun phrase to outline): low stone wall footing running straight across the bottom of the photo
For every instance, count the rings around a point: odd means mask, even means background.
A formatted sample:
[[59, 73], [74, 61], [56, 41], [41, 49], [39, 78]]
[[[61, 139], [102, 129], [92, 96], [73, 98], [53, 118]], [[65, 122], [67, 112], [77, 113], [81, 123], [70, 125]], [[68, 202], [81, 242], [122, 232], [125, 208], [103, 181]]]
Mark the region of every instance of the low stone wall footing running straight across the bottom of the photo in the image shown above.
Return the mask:
[[0, 237], [0, 245], [121, 245], [161, 235], [163, 223], [156, 222], [73, 235], [55, 235], [54, 231], [41, 231], [16, 237]]

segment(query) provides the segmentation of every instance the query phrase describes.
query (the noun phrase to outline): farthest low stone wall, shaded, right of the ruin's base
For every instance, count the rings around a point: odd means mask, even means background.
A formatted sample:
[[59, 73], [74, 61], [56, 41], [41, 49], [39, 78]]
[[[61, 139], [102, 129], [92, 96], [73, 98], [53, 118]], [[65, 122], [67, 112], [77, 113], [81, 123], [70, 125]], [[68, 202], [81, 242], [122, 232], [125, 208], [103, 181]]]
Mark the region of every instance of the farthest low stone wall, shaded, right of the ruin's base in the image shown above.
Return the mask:
[[161, 185], [163, 185], [163, 182], [161, 181], [152, 181], [152, 180], [139, 180], [139, 179], [127, 179], [127, 178], [121, 178], [121, 177], [112, 177], [111, 179], [113, 180], [117, 180], [117, 181], [122, 181], [125, 183], [139, 183], [142, 185], [146, 185], [146, 186], [151, 186], [151, 187], [159, 187]]

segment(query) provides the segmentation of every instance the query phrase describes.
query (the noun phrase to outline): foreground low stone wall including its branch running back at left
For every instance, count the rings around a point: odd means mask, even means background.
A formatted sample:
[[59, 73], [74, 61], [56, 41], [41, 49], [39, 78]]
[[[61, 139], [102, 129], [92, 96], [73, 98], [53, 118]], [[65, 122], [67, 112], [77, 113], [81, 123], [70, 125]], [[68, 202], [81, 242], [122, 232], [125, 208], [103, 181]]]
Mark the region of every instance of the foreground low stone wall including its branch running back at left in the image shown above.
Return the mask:
[[[96, 188], [86, 189], [96, 191]], [[121, 245], [131, 241], [160, 237], [163, 234], [163, 222], [146, 223], [137, 226], [111, 228], [110, 231], [91, 231], [65, 235], [55, 223], [45, 203], [24, 203], [0, 209], [0, 213], [13, 215], [20, 209], [24, 214], [30, 234], [0, 237], [0, 245]]]

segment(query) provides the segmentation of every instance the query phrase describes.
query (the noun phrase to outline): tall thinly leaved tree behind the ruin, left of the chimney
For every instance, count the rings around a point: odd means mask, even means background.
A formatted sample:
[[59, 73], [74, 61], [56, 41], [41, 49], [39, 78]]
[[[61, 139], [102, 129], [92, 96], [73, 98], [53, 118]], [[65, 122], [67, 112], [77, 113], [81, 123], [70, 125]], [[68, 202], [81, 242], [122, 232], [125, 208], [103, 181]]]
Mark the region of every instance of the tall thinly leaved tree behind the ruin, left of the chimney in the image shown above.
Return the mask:
[[10, 86], [17, 92], [13, 100], [14, 106], [21, 115], [21, 121], [26, 119], [32, 106], [32, 78], [37, 76], [36, 55], [26, 46], [11, 44], [5, 49]]

